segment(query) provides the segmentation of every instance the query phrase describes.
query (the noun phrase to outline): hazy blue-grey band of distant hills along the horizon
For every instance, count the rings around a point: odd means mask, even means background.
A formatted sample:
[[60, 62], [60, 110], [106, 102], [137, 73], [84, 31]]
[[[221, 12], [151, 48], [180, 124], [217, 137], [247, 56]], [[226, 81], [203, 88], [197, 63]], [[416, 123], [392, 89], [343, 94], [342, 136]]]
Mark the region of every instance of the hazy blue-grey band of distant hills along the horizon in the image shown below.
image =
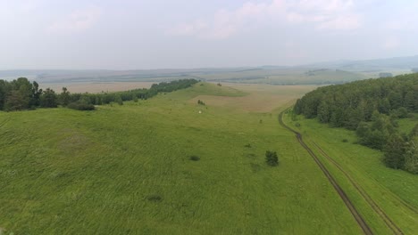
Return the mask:
[[132, 69], [71, 70], [15, 69], [0, 70], [0, 79], [28, 77], [43, 84], [80, 84], [108, 82], [167, 82], [194, 78], [204, 81], [262, 83], [272, 85], [340, 84], [380, 74], [418, 71], [418, 55], [365, 61], [328, 61], [301, 66], [201, 68], [201, 69]]

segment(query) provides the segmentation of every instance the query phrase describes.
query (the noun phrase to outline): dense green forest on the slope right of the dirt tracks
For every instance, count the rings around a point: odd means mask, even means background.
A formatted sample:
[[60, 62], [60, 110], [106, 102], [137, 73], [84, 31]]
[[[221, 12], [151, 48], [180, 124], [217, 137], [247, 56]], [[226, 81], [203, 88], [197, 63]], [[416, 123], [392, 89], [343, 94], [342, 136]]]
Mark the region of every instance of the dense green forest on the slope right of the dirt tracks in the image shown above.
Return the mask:
[[418, 74], [319, 87], [297, 100], [296, 114], [355, 130], [359, 142], [384, 151], [384, 163], [418, 174], [418, 126], [400, 134], [397, 118], [418, 111]]

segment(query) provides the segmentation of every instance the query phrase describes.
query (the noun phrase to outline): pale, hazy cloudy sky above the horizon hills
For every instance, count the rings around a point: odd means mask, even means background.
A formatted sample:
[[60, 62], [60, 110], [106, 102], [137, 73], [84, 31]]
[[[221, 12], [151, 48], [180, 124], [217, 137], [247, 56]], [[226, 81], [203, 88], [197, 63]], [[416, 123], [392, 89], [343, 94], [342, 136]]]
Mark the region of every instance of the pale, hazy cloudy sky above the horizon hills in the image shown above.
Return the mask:
[[418, 54], [418, 1], [0, 0], [0, 69], [191, 69]]

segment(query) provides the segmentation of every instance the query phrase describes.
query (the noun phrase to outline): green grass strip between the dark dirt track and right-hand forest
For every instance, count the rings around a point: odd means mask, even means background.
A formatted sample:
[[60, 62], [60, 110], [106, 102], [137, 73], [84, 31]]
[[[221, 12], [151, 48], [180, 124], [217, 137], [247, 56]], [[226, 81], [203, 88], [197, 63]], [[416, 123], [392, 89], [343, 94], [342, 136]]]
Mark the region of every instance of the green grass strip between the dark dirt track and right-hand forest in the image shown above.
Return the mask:
[[[295, 124], [289, 119], [287, 122], [291, 125]], [[299, 128], [293, 127], [304, 134], [305, 141], [310, 143], [314, 150], [314, 142], [316, 142], [331, 158], [344, 166], [344, 169], [355, 179], [355, 182], [367, 190], [372, 199], [405, 234], [414, 234], [418, 231], [418, 223], [416, 223], [418, 215], [401, 203], [401, 201], [404, 201], [411, 207], [418, 209], [418, 198], [416, 197], [418, 195], [418, 175], [384, 166], [380, 161], [382, 155], [380, 151], [355, 144], [354, 132], [340, 128], [330, 128], [319, 124], [314, 119], [299, 117], [297, 122], [301, 126]], [[415, 123], [416, 121], [401, 120], [400, 126], [412, 128]], [[343, 139], [347, 139], [349, 142], [342, 142]], [[321, 156], [319, 152], [318, 155]], [[322, 161], [338, 177], [339, 182], [344, 185], [348, 195], [355, 200], [357, 207], [366, 215], [366, 218], [375, 217], [371, 207], [365, 203], [352, 184], [347, 181], [347, 177], [341, 174], [325, 158], [322, 158]], [[378, 220], [370, 223], [375, 223], [375, 227], [380, 226], [382, 230], [385, 228], [385, 225], [381, 222], [378, 223]]]

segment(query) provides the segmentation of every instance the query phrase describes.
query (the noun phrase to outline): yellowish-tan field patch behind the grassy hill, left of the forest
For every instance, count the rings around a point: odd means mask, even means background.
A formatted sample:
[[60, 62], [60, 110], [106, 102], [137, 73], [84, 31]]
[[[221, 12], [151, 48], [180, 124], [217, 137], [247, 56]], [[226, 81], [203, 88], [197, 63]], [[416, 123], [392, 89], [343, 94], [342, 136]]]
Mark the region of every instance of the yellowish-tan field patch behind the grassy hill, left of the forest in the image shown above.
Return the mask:
[[222, 84], [249, 93], [246, 96], [198, 95], [191, 102], [204, 101], [206, 105], [222, 106], [231, 109], [244, 109], [249, 112], [270, 112], [313, 90], [314, 85], [247, 85]]

